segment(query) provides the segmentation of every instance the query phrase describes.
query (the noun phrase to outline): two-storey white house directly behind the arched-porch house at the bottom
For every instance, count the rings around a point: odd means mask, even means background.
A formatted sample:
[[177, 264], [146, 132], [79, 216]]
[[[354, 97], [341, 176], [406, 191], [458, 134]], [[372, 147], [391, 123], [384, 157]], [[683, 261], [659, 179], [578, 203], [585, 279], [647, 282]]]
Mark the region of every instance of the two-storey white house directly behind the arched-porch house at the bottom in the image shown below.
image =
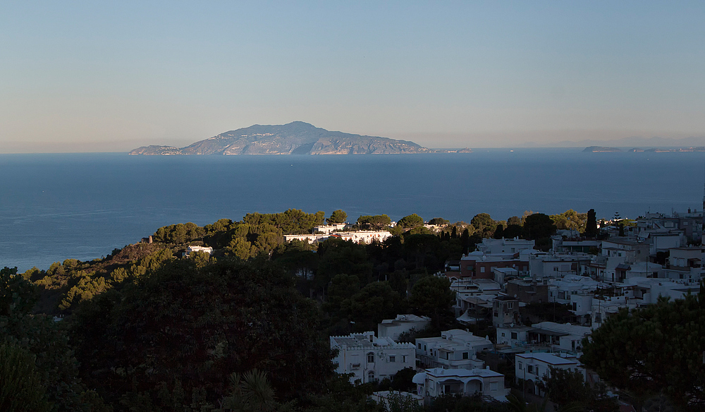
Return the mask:
[[441, 332], [441, 337], [416, 339], [417, 359], [429, 368], [482, 368], [484, 363], [477, 359], [477, 352], [492, 349], [489, 339], [460, 329]]

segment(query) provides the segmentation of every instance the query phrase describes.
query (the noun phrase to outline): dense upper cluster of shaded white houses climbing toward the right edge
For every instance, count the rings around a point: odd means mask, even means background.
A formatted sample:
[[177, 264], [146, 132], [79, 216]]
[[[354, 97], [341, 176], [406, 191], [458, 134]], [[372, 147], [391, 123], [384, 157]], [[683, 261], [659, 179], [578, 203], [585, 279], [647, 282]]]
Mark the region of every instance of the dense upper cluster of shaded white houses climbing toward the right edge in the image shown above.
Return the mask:
[[520, 307], [557, 302], [570, 307], [574, 323], [595, 328], [620, 308], [697, 293], [702, 233], [702, 213], [688, 211], [646, 214], [625, 236], [603, 241], [559, 232], [548, 252], [534, 250], [533, 241], [484, 239], [439, 276], [452, 282], [462, 324], [519, 325]]

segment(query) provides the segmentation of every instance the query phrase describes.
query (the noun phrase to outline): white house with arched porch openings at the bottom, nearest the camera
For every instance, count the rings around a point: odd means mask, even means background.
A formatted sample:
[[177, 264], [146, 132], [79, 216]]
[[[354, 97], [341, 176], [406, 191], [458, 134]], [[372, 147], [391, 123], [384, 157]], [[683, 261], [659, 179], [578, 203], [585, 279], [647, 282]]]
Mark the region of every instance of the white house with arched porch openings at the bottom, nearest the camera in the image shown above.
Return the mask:
[[413, 379], [417, 394], [424, 396], [427, 404], [443, 394], [491, 396], [504, 402], [509, 389], [504, 388], [504, 375], [486, 369], [433, 368], [417, 373]]

